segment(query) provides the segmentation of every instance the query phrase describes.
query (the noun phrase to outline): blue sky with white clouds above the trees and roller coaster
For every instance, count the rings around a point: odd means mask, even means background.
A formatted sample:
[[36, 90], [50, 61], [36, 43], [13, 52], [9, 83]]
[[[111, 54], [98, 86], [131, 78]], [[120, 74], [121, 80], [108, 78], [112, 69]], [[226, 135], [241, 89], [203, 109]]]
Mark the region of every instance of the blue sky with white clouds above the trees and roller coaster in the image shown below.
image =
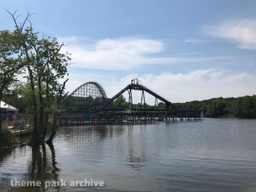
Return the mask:
[[[97, 81], [111, 98], [138, 78], [172, 102], [256, 93], [256, 1], [1, 0], [0, 6], [19, 8], [20, 20], [29, 10], [35, 31], [67, 45], [68, 92]], [[0, 17], [0, 30], [13, 30], [1, 8]]]

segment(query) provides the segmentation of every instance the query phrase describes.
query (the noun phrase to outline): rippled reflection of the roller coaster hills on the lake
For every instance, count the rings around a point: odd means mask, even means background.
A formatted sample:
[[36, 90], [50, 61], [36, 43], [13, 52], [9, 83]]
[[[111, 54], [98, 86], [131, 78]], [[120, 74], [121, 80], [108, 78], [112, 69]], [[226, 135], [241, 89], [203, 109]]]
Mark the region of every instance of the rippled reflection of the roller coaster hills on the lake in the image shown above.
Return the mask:
[[[126, 129], [127, 126], [127, 129]], [[145, 128], [145, 125], [141, 125]], [[68, 140], [68, 144], [72, 148], [76, 148], [77, 151], [90, 151], [90, 161], [89, 164], [99, 163], [100, 160], [106, 157], [106, 152], [109, 152], [109, 148], [104, 146], [104, 142], [111, 140], [113, 137], [124, 138], [127, 143], [125, 150], [128, 151], [125, 157], [127, 165], [132, 168], [132, 170], [141, 170], [143, 164], [146, 162], [146, 156], [144, 154], [143, 146], [141, 143], [134, 140], [133, 138], [133, 125], [99, 125], [99, 126], [78, 126], [69, 127], [69, 129], [60, 129], [60, 134], [64, 135]], [[126, 135], [127, 134], [127, 135]], [[95, 148], [97, 146], [97, 148]], [[91, 150], [93, 147], [93, 151]], [[98, 153], [95, 153], [98, 152]], [[84, 152], [84, 161], [86, 161], [87, 153]], [[110, 154], [109, 154], [110, 155]], [[93, 161], [92, 159], [95, 158]], [[77, 162], [79, 163], [79, 162]]]

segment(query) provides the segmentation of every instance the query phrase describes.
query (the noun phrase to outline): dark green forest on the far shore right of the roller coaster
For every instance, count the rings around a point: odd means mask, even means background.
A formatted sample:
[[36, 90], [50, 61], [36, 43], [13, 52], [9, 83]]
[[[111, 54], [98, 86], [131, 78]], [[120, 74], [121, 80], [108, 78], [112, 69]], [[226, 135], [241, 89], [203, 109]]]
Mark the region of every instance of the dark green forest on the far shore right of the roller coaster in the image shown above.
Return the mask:
[[256, 118], [256, 95], [176, 103], [179, 108], [203, 109], [205, 117]]

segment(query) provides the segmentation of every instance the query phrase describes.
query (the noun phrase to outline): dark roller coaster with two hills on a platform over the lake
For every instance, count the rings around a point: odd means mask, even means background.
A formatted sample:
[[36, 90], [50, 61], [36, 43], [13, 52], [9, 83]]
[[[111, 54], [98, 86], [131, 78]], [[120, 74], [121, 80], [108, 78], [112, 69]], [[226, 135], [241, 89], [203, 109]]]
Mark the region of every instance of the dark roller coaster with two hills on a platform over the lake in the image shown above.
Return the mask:
[[[134, 108], [132, 90], [141, 91], [140, 108]], [[113, 102], [125, 92], [129, 94], [128, 108], [113, 108]], [[147, 108], [145, 92], [165, 104], [165, 109]], [[138, 79], [132, 79], [128, 84], [108, 99], [104, 88], [95, 81], [82, 84], [63, 102], [63, 114], [60, 122], [138, 122], [138, 121], [183, 121], [202, 120], [201, 109], [179, 109], [168, 99], [143, 85]]]

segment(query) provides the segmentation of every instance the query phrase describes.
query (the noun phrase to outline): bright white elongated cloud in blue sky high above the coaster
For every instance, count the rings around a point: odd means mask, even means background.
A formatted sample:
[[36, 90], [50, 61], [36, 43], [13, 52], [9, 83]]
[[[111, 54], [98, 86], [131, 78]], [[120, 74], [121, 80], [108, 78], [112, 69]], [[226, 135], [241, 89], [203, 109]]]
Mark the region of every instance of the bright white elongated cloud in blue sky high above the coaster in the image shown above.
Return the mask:
[[166, 56], [166, 45], [159, 40], [147, 38], [106, 38], [93, 41], [71, 36], [60, 38], [68, 46], [63, 52], [72, 54], [71, 67], [100, 70], [134, 70], [142, 65], [159, 65], [172, 63], [191, 63], [216, 58], [195, 58], [186, 56]]

